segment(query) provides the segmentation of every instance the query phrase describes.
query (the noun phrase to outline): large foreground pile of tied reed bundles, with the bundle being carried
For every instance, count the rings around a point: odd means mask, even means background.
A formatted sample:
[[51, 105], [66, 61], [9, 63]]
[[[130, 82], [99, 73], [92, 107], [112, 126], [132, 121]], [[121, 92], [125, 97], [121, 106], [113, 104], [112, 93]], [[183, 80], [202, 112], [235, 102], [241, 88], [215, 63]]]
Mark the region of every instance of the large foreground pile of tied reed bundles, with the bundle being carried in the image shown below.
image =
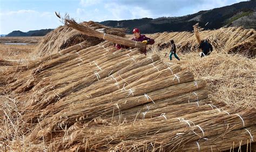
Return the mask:
[[[66, 24], [104, 36], [73, 20]], [[157, 54], [140, 54], [143, 44], [104, 38], [112, 41], [82, 42], [4, 71], [2, 149], [170, 151], [196, 149], [195, 142], [207, 149], [214, 142], [228, 150], [233, 141], [233, 148], [247, 144], [237, 144], [235, 134], [253, 142], [255, 108], [208, 98], [204, 79]], [[121, 41], [138, 48], [117, 51], [112, 43]], [[227, 132], [232, 140], [215, 142]], [[201, 142], [205, 138], [209, 142]]]

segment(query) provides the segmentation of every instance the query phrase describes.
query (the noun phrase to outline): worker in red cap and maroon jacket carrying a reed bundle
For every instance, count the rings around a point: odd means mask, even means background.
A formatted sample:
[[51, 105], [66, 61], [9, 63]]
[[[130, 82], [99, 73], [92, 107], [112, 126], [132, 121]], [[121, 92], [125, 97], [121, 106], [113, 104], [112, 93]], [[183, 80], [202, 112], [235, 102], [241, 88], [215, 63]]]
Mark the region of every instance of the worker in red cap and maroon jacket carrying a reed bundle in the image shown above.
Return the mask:
[[[133, 33], [134, 37], [131, 38], [131, 40], [134, 40], [136, 42], [142, 42], [144, 44], [151, 44], [151, 45], [154, 44], [154, 40], [151, 39], [151, 38], [146, 37], [145, 35], [140, 34], [139, 29], [137, 29], [137, 28], [133, 29], [132, 33]], [[119, 50], [121, 48], [126, 49], [127, 47], [124, 46], [124, 45], [116, 44], [116, 49]], [[146, 53], [147, 53], [146, 47], [140, 52], [142, 52], [143, 54], [146, 55]]]

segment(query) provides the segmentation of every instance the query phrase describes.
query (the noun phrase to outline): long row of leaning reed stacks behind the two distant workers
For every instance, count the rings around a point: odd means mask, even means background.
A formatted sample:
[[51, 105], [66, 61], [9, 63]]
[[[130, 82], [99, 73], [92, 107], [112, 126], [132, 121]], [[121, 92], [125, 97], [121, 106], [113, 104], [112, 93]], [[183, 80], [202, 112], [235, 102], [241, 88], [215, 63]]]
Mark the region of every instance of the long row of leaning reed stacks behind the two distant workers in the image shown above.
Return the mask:
[[[155, 39], [156, 46], [169, 43], [174, 40], [178, 53], [197, 52], [200, 40], [207, 39], [214, 47], [214, 51], [226, 53], [239, 53], [247, 57], [255, 57], [256, 32], [253, 29], [242, 27], [228, 27], [218, 30], [200, 31], [200, 27], [194, 26], [192, 32], [164, 32], [150, 35]], [[196, 37], [196, 38], [195, 38]]]

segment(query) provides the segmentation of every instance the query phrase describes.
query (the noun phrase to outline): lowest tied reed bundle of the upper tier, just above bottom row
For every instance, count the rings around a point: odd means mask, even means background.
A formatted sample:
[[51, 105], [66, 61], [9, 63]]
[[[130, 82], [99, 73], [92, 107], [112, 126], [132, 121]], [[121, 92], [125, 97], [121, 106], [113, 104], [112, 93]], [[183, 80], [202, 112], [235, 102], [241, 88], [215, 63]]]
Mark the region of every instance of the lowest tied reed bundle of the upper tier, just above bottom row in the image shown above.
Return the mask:
[[152, 118], [154, 116], [159, 116], [163, 113], [168, 114], [170, 118], [174, 118], [174, 117], [180, 116], [179, 111], [184, 115], [184, 113], [190, 113], [188, 111], [188, 108], [190, 107], [193, 107], [194, 109], [191, 109], [191, 110], [195, 112], [196, 107], [205, 105], [206, 103], [212, 103], [212, 101], [208, 101], [207, 99], [204, 101], [201, 101], [202, 99], [205, 99], [207, 97], [208, 97], [208, 94], [207, 94], [206, 88], [202, 88], [202, 89], [193, 91], [193, 93], [192, 92], [184, 93], [171, 98], [154, 100], [154, 102], [150, 102], [144, 105], [125, 109], [120, 111], [120, 114], [113, 115], [112, 118], [108, 118], [107, 116], [104, 116], [104, 115], [101, 118], [111, 122], [112, 124], [113, 122], [115, 122], [118, 125], [120, 125], [121, 123], [120, 120], [124, 120], [125, 123], [128, 123], [128, 122], [134, 122], [135, 118], [136, 120], [147, 119], [147, 118]]

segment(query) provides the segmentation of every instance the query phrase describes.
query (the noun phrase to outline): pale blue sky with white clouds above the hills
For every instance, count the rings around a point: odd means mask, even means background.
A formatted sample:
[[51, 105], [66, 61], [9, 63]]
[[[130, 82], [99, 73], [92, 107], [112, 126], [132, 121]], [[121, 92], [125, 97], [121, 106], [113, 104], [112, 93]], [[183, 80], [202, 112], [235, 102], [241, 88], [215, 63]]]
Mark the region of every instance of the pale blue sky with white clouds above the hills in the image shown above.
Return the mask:
[[0, 0], [0, 34], [55, 29], [55, 11], [78, 22], [178, 17], [242, 2], [240, 0]]

